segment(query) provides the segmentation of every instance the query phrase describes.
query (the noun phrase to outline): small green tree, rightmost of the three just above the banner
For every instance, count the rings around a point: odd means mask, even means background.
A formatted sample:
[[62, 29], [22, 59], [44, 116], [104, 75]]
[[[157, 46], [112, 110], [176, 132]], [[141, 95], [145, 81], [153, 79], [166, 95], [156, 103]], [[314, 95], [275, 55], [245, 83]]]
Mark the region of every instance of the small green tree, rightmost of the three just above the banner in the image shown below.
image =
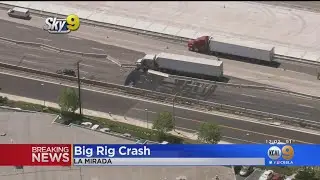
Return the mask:
[[219, 126], [212, 123], [200, 124], [198, 130], [198, 140], [203, 143], [217, 144], [221, 139]]

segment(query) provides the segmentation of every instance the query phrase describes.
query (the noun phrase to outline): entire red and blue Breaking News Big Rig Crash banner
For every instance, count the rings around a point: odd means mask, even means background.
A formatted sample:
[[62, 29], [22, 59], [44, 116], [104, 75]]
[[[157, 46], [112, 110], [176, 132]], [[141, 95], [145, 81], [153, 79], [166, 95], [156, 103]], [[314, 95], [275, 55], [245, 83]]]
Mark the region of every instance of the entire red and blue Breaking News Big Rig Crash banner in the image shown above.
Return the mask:
[[319, 166], [320, 145], [0, 144], [0, 166]]

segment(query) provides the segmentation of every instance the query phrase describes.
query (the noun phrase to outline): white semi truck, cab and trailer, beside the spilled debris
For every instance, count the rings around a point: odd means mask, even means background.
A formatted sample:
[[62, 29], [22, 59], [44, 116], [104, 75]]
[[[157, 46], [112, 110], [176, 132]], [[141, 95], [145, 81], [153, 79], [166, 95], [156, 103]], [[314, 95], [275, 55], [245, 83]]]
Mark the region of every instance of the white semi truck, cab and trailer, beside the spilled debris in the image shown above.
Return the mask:
[[136, 62], [138, 70], [158, 71], [201, 79], [223, 77], [223, 62], [178, 54], [147, 54]]

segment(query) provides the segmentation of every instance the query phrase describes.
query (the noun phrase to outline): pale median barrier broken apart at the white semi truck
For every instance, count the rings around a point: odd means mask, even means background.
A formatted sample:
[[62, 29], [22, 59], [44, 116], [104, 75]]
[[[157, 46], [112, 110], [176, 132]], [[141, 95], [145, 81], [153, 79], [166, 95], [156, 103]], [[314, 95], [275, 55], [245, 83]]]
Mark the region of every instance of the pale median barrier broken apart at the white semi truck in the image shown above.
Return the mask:
[[[70, 54], [74, 54], [74, 55], [80, 55], [80, 56], [83, 56], [83, 57], [105, 58], [105, 59], [110, 60], [113, 63], [117, 64], [119, 67], [123, 67], [123, 68], [133, 68], [133, 67], [135, 67], [135, 65], [133, 65], [133, 64], [121, 64], [119, 62], [119, 60], [117, 60], [117, 59], [115, 59], [115, 58], [113, 58], [113, 57], [111, 57], [111, 56], [109, 56], [107, 54], [83, 53], [83, 52], [71, 51], [71, 50], [67, 50], [67, 49], [60, 49], [60, 48], [49, 46], [49, 45], [46, 45], [46, 44], [35, 43], [35, 42], [17, 41], [17, 40], [13, 40], [13, 39], [4, 38], [4, 37], [0, 37], [0, 40], [7, 41], [7, 42], [10, 42], [10, 43], [15, 43], [15, 44], [21, 44], [21, 45], [28, 45], [28, 46], [32, 46], [32, 47], [45, 48], [45, 49], [48, 49], [48, 50], [61, 52], [61, 53], [70, 53]], [[55, 74], [55, 73], [53, 73], [53, 74]], [[278, 92], [278, 93], [286, 93], [286, 94], [304, 96], [304, 97], [308, 97], [308, 98], [312, 98], [312, 99], [320, 99], [320, 97], [317, 97], [317, 96], [307, 95], [307, 94], [303, 94], [303, 93], [297, 93], [297, 92], [288, 91], [288, 90], [281, 89], [281, 88], [269, 87], [269, 86], [255, 86], [255, 85], [247, 85], [247, 84], [223, 83], [223, 82], [209, 81], [209, 80], [204, 80], [204, 79], [197, 79], [197, 78], [191, 78], [191, 77], [185, 77], [185, 76], [176, 76], [176, 75], [170, 75], [169, 78], [181, 79], [181, 80], [186, 80], [186, 81], [196, 81], [196, 82], [201, 82], [201, 83], [206, 83], [206, 84], [215, 84], [215, 85], [228, 86], [228, 87], [269, 90], [269, 91], [274, 91], [274, 92]]]

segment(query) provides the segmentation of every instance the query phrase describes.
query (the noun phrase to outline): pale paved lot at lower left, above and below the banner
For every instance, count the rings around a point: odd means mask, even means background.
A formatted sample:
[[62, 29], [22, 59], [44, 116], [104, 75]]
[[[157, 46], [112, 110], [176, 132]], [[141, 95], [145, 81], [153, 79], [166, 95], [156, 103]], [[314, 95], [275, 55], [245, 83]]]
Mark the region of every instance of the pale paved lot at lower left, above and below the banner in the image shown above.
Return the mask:
[[[107, 143], [132, 144], [134, 142], [78, 127], [52, 124], [55, 116], [43, 113], [0, 111], [0, 143]], [[5, 180], [176, 180], [186, 176], [189, 180], [212, 179], [219, 175], [233, 180], [227, 167], [0, 167], [0, 179]]]

